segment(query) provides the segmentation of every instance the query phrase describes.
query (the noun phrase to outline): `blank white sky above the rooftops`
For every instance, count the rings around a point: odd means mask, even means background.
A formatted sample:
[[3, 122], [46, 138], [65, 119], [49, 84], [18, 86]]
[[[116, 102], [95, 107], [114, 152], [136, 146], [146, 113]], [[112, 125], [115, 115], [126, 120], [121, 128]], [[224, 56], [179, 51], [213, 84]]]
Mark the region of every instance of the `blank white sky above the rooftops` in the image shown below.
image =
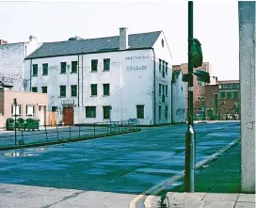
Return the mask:
[[[40, 42], [163, 30], [172, 65], [187, 63], [187, 1], [0, 2], [0, 39]], [[194, 1], [194, 38], [218, 80], [239, 79], [237, 1]]]

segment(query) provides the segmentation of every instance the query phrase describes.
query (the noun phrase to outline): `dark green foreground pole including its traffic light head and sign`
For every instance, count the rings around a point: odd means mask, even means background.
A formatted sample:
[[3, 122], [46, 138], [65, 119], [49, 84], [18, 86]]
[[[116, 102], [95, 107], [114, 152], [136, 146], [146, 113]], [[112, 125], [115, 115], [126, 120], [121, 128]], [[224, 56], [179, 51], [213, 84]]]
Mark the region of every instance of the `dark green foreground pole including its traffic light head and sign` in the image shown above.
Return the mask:
[[185, 168], [184, 189], [186, 192], [195, 191], [196, 167], [196, 134], [193, 121], [193, 74], [200, 82], [210, 83], [209, 72], [193, 71], [202, 65], [202, 52], [200, 41], [193, 38], [193, 1], [188, 2], [188, 72], [184, 74], [183, 81], [188, 83], [188, 121], [185, 132]]

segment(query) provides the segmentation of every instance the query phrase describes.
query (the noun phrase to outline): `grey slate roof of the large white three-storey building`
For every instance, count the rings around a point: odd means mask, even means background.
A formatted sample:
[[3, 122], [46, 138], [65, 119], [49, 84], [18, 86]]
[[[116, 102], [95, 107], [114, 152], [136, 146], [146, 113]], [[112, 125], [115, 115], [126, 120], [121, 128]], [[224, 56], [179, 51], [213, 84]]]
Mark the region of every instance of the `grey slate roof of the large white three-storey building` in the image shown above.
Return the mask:
[[[129, 50], [151, 48], [158, 39], [162, 31], [133, 34], [128, 36]], [[48, 57], [48, 56], [68, 56], [80, 53], [101, 53], [118, 51], [120, 47], [120, 37], [106, 37], [88, 40], [66, 40], [56, 42], [44, 42], [30, 56], [25, 59]]]

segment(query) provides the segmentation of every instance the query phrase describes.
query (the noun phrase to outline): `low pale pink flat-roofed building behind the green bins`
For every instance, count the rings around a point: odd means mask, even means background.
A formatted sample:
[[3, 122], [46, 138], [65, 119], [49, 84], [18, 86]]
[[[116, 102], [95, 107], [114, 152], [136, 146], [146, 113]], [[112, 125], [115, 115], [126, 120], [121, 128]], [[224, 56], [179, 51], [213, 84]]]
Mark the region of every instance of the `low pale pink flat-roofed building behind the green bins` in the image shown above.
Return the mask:
[[14, 119], [14, 98], [17, 99], [17, 119], [37, 118], [40, 120], [40, 125], [48, 125], [50, 123], [50, 116], [46, 113], [48, 106], [47, 94], [0, 88], [0, 127], [6, 126], [8, 118]]

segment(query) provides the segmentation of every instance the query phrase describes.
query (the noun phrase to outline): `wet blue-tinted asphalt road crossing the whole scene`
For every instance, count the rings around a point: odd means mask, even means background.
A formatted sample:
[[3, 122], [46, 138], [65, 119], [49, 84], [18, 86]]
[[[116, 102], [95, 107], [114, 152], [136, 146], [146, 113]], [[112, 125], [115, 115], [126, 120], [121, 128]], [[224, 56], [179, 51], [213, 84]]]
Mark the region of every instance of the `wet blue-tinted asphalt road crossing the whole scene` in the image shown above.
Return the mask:
[[[0, 183], [139, 194], [184, 169], [185, 124], [0, 152]], [[240, 122], [195, 124], [199, 162], [240, 136]], [[18, 152], [20, 156], [11, 156]], [[26, 155], [26, 156], [25, 156]]]

